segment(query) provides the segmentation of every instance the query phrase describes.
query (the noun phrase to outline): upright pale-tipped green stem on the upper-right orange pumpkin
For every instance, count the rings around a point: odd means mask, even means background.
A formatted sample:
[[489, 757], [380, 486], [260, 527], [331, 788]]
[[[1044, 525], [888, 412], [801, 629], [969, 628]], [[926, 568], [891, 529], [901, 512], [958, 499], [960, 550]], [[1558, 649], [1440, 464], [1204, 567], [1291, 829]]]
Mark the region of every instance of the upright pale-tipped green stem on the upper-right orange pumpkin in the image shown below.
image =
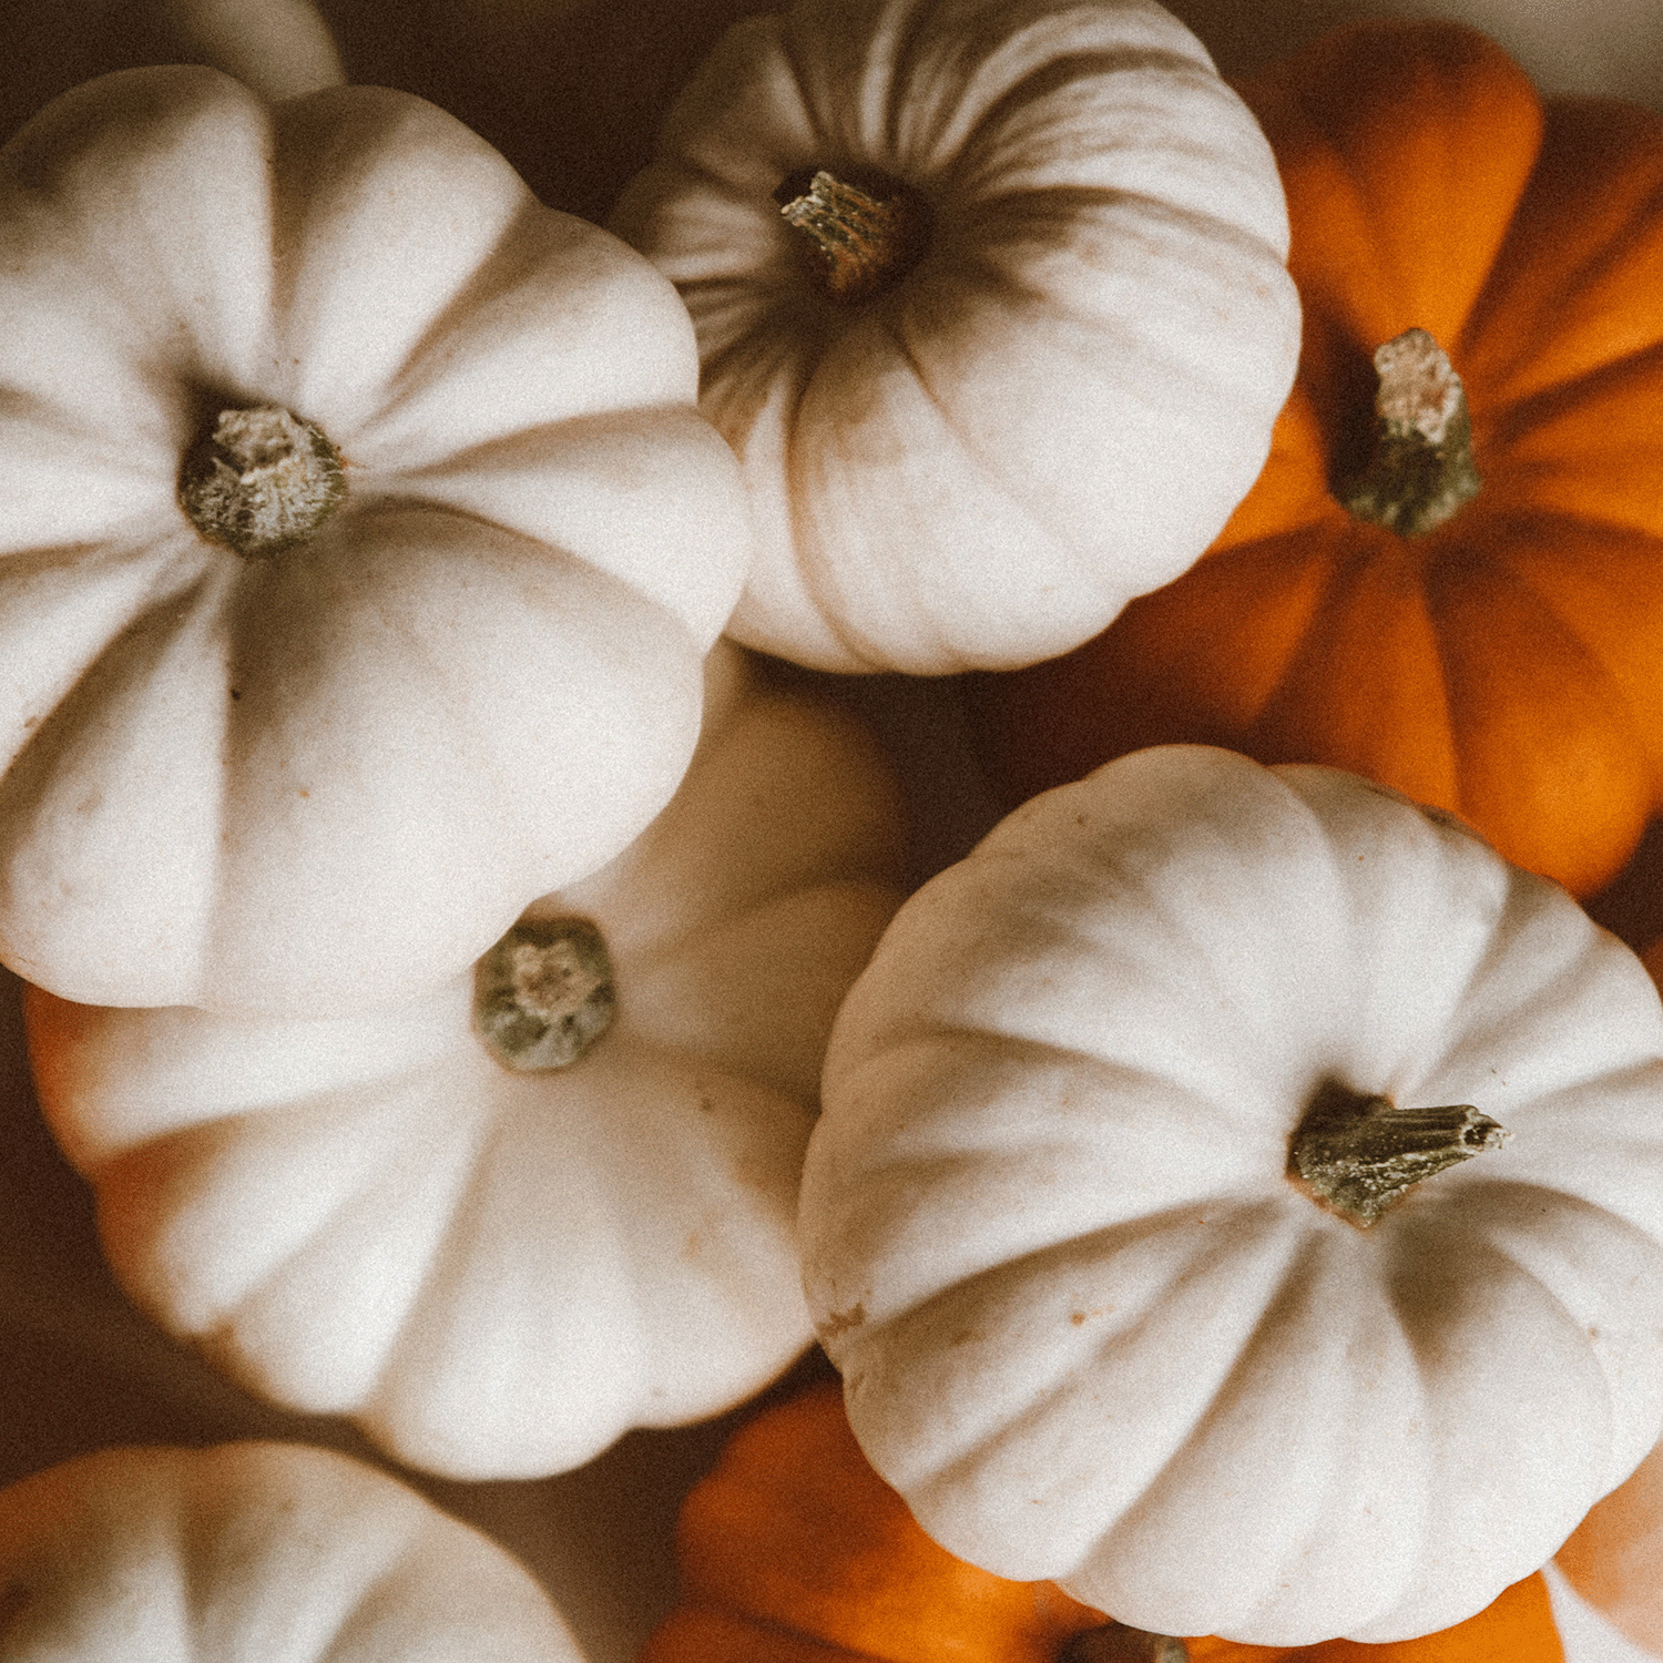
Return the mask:
[[1374, 454], [1335, 492], [1357, 519], [1422, 537], [1435, 530], [1482, 481], [1472, 459], [1467, 394], [1448, 354], [1425, 329], [1405, 329], [1374, 354]]

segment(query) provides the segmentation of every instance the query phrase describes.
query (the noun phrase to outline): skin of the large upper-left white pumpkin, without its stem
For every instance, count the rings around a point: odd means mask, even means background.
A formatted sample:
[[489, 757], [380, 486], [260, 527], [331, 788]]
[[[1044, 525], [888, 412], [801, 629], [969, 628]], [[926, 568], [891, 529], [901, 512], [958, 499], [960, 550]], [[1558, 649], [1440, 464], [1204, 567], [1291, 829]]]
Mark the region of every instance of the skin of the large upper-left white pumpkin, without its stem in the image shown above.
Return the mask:
[[[417, 98], [175, 67], [0, 151], [0, 261], [8, 966], [386, 1003], [664, 807], [750, 532], [644, 259]], [[243, 555], [178, 477], [263, 404], [328, 434], [346, 501]]]

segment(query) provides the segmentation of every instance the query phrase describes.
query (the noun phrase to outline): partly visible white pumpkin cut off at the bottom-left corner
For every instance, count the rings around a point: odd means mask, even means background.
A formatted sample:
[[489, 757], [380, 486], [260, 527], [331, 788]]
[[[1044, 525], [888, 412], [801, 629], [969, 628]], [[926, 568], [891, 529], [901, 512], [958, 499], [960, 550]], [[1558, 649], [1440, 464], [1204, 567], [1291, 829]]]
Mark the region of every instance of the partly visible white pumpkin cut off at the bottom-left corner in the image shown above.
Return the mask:
[[303, 1443], [110, 1448], [0, 1490], [7, 1663], [582, 1663], [530, 1575]]

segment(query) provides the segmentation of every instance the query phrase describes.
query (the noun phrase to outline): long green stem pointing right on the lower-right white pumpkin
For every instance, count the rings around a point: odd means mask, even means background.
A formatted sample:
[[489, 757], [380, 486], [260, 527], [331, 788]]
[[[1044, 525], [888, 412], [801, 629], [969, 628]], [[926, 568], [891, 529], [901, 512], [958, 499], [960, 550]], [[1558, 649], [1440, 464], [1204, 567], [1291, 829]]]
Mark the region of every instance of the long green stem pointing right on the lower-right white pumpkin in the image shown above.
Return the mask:
[[1287, 1171], [1329, 1211], [1367, 1229], [1412, 1186], [1498, 1149], [1507, 1136], [1470, 1103], [1399, 1109], [1390, 1098], [1327, 1091], [1294, 1133]]

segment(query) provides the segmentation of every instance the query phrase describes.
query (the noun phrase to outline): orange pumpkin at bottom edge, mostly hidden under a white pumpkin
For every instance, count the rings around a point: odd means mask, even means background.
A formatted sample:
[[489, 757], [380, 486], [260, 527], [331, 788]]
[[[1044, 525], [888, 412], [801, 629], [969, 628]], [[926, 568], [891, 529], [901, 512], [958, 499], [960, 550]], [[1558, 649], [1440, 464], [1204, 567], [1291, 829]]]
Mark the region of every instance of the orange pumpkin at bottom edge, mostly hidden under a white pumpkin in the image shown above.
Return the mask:
[[[830, 1380], [728, 1442], [677, 1527], [682, 1596], [639, 1663], [1166, 1663], [1048, 1582], [1006, 1582], [931, 1542], [866, 1463]], [[1189, 1663], [1563, 1663], [1542, 1577], [1455, 1628], [1289, 1650], [1199, 1638]]]

